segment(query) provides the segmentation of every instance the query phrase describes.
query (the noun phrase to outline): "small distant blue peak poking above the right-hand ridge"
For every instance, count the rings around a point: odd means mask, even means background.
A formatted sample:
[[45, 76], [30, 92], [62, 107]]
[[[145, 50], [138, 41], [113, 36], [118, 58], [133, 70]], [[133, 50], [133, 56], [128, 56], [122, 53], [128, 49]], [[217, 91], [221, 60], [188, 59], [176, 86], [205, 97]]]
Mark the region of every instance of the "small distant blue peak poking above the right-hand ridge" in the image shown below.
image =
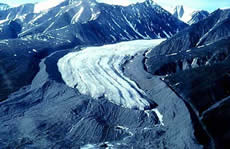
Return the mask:
[[209, 12], [205, 11], [205, 10], [195, 11], [192, 14], [191, 20], [188, 21], [188, 24], [191, 25], [191, 24], [197, 23], [197, 22], [207, 18], [208, 15], [209, 15]]

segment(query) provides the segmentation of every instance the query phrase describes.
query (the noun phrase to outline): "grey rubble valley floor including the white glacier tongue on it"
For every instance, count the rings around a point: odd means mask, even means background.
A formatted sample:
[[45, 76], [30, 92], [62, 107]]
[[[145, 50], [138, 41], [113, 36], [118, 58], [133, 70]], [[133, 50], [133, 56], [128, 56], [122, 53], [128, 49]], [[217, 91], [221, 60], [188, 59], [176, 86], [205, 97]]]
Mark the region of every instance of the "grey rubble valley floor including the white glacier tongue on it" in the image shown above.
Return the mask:
[[143, 69], [161, 41], [44, 58], [31, 85], [0, 103], [0, 147], [201, 148], [186, 105]]

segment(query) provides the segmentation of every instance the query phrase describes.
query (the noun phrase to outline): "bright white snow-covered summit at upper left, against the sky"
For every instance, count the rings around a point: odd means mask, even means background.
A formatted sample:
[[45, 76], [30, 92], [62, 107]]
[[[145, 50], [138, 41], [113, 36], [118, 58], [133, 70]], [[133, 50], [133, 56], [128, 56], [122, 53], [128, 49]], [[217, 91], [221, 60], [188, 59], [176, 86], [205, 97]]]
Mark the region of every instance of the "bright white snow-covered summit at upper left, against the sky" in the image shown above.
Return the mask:
[[65, 0], [47, 0], [44, 2], [37, 3], [37, 4], [35, 4], [35, 7], [34, 7], [34, 13], [46, 11], [50, 8], [53, 8], [57, 5], [59, 5], [60, 3], [64, 2], [64, 1]]

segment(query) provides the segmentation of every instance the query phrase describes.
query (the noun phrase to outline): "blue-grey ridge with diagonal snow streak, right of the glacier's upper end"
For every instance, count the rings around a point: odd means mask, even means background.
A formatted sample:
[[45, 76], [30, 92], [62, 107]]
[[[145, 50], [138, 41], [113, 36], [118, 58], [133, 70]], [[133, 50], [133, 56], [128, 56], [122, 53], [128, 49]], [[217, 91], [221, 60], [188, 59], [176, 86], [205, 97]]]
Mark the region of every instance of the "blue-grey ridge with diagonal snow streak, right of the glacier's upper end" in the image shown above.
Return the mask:
[[208, 18], [191, 25], [161, 43], [151, 50], [147, 57], [178, 53], [229, 36], [229, 15], [230, 10], [216, 10]]

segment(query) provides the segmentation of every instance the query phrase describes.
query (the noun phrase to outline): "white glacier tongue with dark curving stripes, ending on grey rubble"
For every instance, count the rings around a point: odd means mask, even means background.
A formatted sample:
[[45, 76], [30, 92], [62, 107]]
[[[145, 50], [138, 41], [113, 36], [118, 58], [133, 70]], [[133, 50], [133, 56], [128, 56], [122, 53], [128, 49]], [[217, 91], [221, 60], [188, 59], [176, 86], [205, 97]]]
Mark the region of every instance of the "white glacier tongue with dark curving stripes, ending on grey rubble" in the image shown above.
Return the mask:
[[58, 69], [65, 83], [84, 95], [94, 99], [105, 97], [122, 107], [144, 110], [150, 105], [143, 98], [145, 93], [123, 74], [122, 64], [162, 41], [136, 40], [88, 47], [65, 55], [58, 61]]

